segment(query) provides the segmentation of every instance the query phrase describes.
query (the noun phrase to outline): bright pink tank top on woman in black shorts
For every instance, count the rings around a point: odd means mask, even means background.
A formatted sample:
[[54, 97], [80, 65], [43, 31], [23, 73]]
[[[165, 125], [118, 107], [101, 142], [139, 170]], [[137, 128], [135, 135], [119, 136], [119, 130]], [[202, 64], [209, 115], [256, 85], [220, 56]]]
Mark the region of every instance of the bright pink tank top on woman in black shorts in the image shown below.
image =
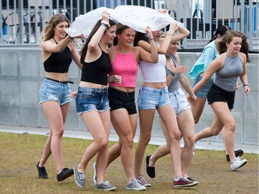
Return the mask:
[[112, 82], [109, 84], [109, 86], [135, 88], [137, 86], [138, 64], [132, 50], [130, 54], [124, 55], [117, 52], [116, 46], [114, 48], [116, 55], [111, 63], [113, 70], [109, 73], [109, 75], [122, 76], [122, 84]]

